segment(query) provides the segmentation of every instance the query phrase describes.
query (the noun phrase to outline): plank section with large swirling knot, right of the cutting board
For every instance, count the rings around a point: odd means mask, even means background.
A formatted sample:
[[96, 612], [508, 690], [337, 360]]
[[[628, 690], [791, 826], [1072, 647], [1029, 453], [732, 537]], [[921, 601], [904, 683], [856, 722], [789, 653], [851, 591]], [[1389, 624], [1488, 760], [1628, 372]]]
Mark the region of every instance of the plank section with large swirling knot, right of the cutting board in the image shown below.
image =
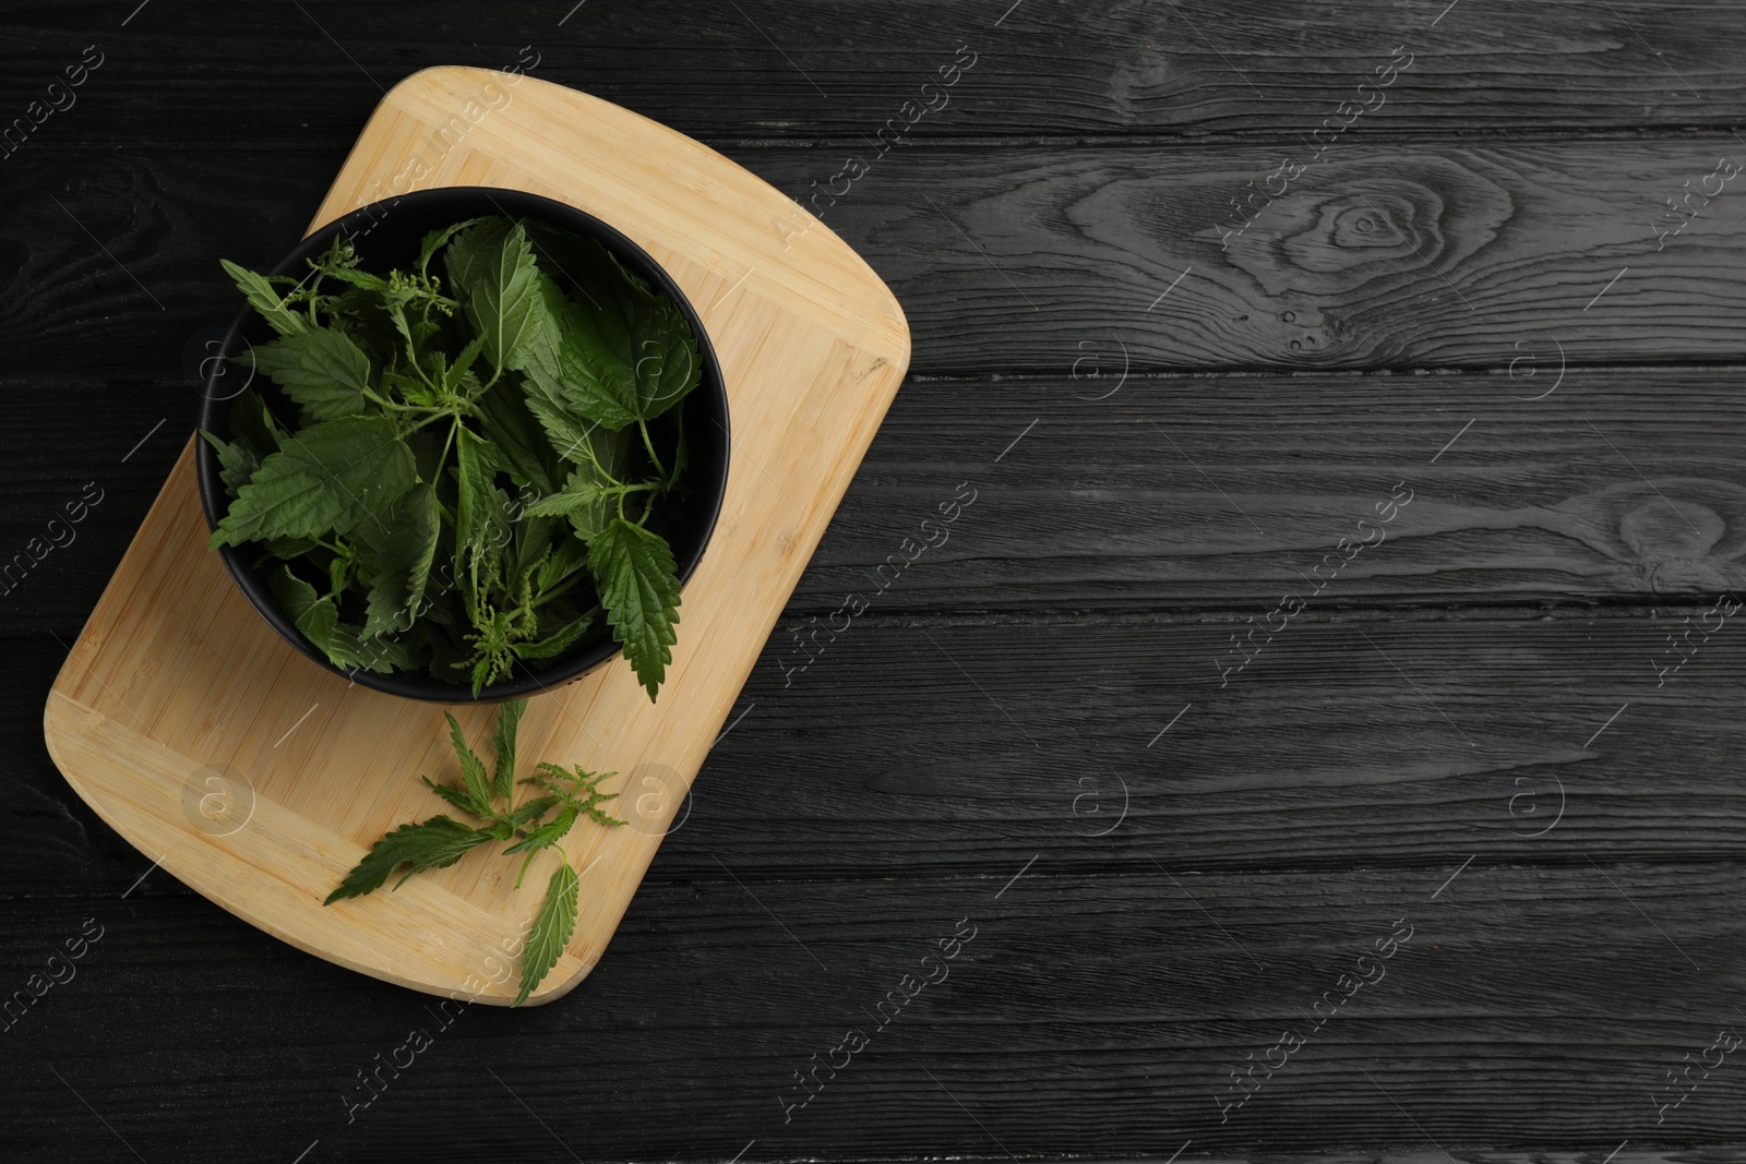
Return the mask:
[[838, 225], [906, 293], [927, 372], [981, 373], [995, 351], [1053, 372], [1114, 340], [1138, 370], [1495, 368], [1549, 337], [1578, 365], [1737, 359], [1741, 202], [1660, 253], [1652, 229], [1737, 150], [1336, 148], [1229, 239], [1278, 150], [917, 152], [901, 209], [870, 195]]

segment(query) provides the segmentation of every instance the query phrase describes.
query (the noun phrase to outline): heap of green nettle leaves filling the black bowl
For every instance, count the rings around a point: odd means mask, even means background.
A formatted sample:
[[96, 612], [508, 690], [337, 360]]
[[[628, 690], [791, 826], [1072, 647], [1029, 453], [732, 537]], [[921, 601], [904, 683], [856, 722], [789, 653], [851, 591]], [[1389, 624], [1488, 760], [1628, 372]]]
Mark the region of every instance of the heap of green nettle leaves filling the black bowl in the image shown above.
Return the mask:
[[679, 621], [676, 405], [702, 375], [674, 300], [592, 239], [499, 216], [386, 276], [340, 237], [302, 279], [223, 267], [278, 332], [243, 359], [295, 415], [248, 389], [203, 431], [230, 497], [210, 544], [260, 551], [340, 670], [478, 696], [609, 628], [653, 700]]

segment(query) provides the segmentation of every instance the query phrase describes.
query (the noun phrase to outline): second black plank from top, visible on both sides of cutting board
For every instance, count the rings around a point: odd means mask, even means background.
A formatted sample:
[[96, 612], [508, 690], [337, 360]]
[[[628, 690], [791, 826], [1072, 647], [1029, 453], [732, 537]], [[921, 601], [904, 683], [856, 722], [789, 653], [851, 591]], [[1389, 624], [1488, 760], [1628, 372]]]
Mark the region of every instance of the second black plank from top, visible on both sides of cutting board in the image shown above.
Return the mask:
[[[1283, 199], [1257, 195], [1264, 213], [1227, 248], [1231, 199], [1268, 185], [1273, 147], [918, 145], [817, 206], [903, 302], [918, 373], [1063, 375], [1117, 344], [1137, 372], [1505, 368], [1517, 344], [1552, 340], [1575, 366], [1746, 361], [1746, 178], [1708, 206], [1694, 197], [1701, 216], [1662, 250], [1655, 234], [1664, 199], [1736, 154], [1715, 134], [1341, 147]], [[796, 150], [733, 155], [789, 194], [817, 176]], [[272, 262], [304, 225], [311, 181], [297, 175], [313, 164], [274, 154], [218, 190], [187, 152], [86, 159], [82, 194], [61, 201], [113, 258], [49, 201], [59, 164], [17, 166], [0, 236], [26, 255], [0, 300], [12, 370], [133, 380], [180, 366], [230, 318], [215, 260]], [[780, 202], [754, 225], [780, 246], [801, 237], [798, 215]], [[80, 342], [93, 333], [110, 342]]]

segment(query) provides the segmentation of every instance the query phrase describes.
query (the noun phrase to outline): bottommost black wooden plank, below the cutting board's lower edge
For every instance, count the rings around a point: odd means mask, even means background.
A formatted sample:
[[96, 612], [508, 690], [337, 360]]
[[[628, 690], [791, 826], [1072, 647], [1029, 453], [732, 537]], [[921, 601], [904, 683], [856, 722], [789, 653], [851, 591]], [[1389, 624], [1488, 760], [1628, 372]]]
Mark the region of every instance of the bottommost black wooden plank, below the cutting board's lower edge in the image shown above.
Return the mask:
[[[997, 1138], [1018, 1159], [1156, 1162], [1193, 1140], [1196, 1161], [1254, 1161], [1257, 1143], [1266, 1159], [1348, 1159], [1322, 1155], [1348, 1143], [1428, 1164], [1446, 1159], [1440, 1143], [1463, 1162], [1526, 1164], [1474, 1147], [1531, 1133], [1570, 1154], [1556, 1159], [1596, 1164], [1624, 1140], [1634, 1161], [1690, 1159], [1655, 1155], [1660, 1143], [1737, 1141], [1746, 1082], [1732, 1056], [1662, 1124], [1652, 1096], [1681, 1056], [1743, 1026], [1729, 969], [1746, 955], [1741, 866], [1596, 857], [1475, 862], [1446, 888], [1458, 853], [1339, 876], [1133, 860], [1086, 878], [1044, 859], [1009, 887], [1023, 862], [861, 885], [650, 883], [594, 984], [616, 1002], [548, 1010], [519, 1033], [478, 1012], [443, 1030], [428, 1000], [300, 958], [154, 874], [126, 902], [9, 904], [0, 963], [23, 974], [82, 918], [105, 934], [7, 1031], [0, 1148], [54, 1136], [79, 1157], [124, 1159], [45, 1063], [148, 1161], [290, 1161], [318, 1138], [325, 1159], [461, 1161], [487, 1143], [505, 1159], [571, 1159], [557, 1136], [588, 1161], [726, 1161], [753, 1140], [746, 1159], [915, 1159], [941, 1145], [1006, 1159]], [[882, 1030], [876, 1003], [960, 920], [974, 937], [941, 962], [946, 977], [897, 1019], [887, 1009]], [[1381, 960], [1378, 942], [1407, 930]], [[1374, 979], [1371, 967], [1381, 979], [1313, 1030], [1304, 1014], [1343, 974]], [[166, 1051], [189, 1012], [208, 1021]], [[367, 1094], [356, 1072], [395, 1058], [414, 1028], [435, 1045], [400, 1058], [347, 1124], [342, 1096]], [[870, 1045], [784, 1122], [794, 1072], [850, 1028]], [[1264, 1061], [1283, 1030], [1306, 1045], [1220, 1122], [1229, 1072]], [[513, 1091], [482, 1087], [485, 1068]], [[190, 1124], [213, 1094], [250, 1096], [246, 1117], [218, 1105]], [[505, 1117], [517, 1098], [538, 1122]]]

